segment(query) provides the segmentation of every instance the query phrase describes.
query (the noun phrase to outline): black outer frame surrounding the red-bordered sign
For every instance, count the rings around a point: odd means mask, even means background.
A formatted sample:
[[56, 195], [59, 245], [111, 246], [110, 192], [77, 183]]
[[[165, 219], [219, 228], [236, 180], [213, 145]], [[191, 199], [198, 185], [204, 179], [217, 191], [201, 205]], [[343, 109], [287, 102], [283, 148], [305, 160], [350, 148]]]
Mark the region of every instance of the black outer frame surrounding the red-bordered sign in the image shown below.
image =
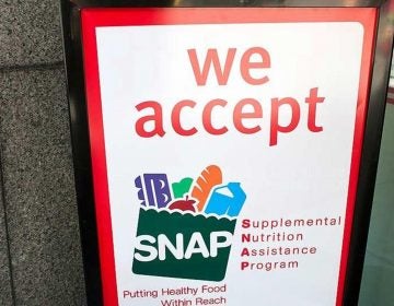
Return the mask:
[[364, 139], [357, 188], [356, 209], [345, 282], [344, 305], [357, 305], [376, 176], [393, 47], [393, 4], [387, 0], [61, 0], [65, 62], [69, 96], [76, 190], [88, 305], [103, 305], [94, 208], [90, 137], [81, 44], [80, 12], [84, 8], [376, 8], [373, 68]]

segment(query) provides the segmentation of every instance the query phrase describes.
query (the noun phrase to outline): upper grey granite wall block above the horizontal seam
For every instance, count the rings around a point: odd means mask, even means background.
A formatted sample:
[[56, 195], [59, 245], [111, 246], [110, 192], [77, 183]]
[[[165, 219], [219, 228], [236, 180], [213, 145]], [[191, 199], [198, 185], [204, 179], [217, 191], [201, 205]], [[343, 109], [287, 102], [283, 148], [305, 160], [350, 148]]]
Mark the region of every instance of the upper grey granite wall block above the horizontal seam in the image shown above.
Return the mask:
[[62, 60], [57, 0], [0, 0], [0, 64]]

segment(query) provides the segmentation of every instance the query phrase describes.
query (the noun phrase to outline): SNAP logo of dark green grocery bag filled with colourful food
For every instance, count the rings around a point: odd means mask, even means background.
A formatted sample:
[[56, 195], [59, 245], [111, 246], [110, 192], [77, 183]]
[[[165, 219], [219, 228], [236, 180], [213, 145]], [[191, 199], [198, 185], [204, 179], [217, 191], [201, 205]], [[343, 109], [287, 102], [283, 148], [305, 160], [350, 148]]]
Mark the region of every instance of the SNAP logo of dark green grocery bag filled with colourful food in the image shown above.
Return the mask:
[[210, 165], [196, 179], [170, 184], [166, 174], [143, 174], [135, 186], [140, 211], [132, 272], [223, 280], [246, 200], [241, 184], [223, 184], [220, 167]]

